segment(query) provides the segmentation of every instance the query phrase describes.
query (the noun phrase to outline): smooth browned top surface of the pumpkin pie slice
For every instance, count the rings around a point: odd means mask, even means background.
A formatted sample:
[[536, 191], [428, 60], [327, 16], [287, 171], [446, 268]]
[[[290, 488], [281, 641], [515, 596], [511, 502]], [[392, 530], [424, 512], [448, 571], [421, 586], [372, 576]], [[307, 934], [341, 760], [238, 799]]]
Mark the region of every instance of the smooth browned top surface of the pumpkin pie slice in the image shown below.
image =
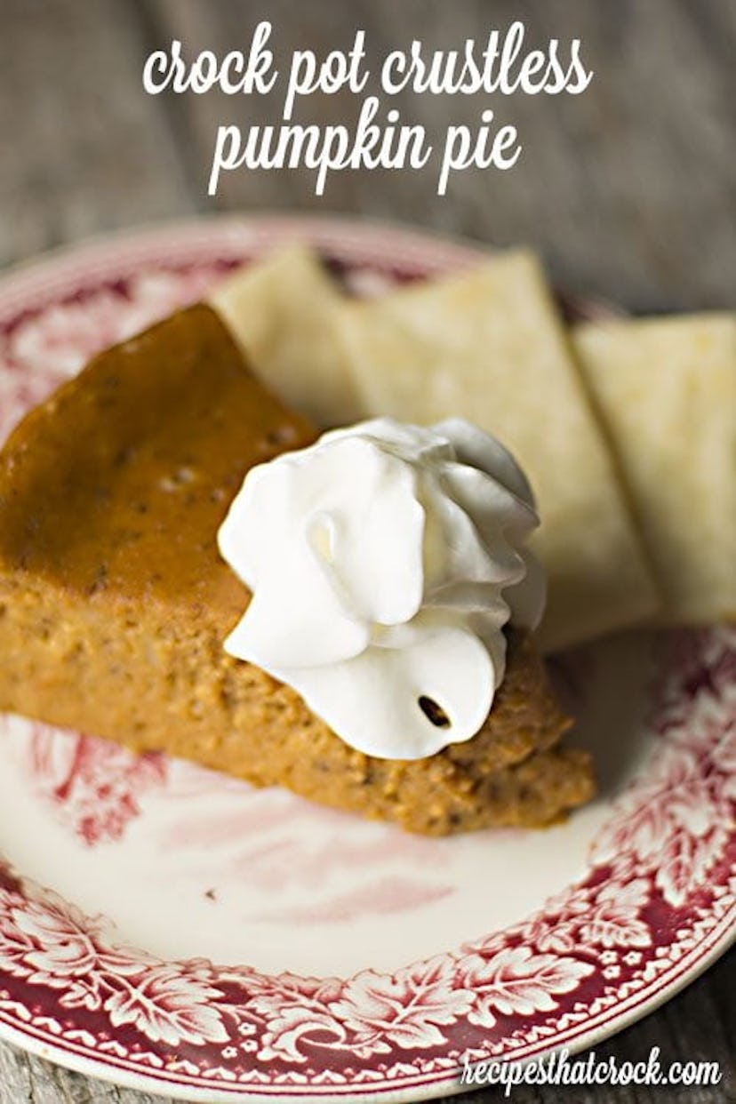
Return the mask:
[[0, 567], [232, 623], [245, 593], [217, 529], [248, 468], [313, 438], [191, 307], [100, 353], [11, 435]]

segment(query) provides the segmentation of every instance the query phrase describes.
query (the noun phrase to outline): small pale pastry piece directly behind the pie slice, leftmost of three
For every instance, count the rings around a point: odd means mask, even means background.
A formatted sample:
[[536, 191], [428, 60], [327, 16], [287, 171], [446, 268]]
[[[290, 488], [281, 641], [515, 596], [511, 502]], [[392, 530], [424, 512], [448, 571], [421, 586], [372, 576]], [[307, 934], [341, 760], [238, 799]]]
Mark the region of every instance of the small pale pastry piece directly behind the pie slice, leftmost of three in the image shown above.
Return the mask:
[[340, 341], [342, 299], [306, 244], [239, 269], [210, 296], [253, 371], [317, 425], [344, 425], [361, 416]]

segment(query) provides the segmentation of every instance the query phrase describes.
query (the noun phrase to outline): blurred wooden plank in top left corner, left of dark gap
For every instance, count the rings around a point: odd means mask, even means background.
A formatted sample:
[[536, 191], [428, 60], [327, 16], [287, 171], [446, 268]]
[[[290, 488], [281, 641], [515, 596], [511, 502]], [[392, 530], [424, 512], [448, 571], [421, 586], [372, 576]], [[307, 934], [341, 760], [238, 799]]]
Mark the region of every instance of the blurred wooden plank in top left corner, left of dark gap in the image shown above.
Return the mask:
[[166, 117], [139, 92], [146, 44], [130, 7], [0, 8], [0, 264], [194, 210]]

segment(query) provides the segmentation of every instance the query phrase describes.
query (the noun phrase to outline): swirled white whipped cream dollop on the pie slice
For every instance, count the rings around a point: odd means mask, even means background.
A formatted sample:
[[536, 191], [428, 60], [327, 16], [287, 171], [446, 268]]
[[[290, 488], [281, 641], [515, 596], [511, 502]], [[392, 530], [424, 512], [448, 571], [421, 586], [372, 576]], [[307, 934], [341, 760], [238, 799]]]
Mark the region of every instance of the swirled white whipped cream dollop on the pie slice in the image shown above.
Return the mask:
[[253, 597], [225, 649], [294, 687], [348, 744], [414, 760], [469, 740], [542, 570], [523, 473], [460, 418], [375, 418], [252, 468], [218, 532]]

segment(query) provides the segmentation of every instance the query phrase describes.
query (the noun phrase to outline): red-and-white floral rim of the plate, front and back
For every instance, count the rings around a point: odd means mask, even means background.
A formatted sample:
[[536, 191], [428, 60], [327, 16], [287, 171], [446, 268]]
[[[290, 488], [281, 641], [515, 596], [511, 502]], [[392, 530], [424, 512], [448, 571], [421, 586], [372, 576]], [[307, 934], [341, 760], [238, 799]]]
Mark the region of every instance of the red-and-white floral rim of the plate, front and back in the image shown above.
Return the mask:
[[[121, 233], [0, 279], [0, 434], [100, 343], [303, 237], [371, 294], [478, 246], [334, 219], [218, 216]], [[736, 633], [659, 637], [647, 765], [584, 878], [520, 923], [393, 973], [267, 975], [117, 945], [99, 917], [0, 864], [0, 1037], [191, 1100], [414, 1100], [465, 1058], [591, 1045], [651, 1011], [736, 935]]]

